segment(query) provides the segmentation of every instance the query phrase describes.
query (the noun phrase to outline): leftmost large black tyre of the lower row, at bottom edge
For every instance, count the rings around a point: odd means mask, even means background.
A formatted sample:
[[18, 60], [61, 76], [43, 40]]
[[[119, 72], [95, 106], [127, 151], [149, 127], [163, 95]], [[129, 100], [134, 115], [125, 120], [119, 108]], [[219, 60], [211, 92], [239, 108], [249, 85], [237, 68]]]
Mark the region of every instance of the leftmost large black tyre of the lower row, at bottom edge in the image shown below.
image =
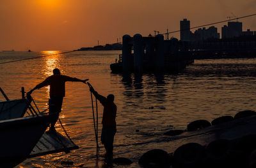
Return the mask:
[[164, 150], [150, 150], [142, 155], [139, 164], [147, 168], [169, 168], [172, 163], [172, 158]]

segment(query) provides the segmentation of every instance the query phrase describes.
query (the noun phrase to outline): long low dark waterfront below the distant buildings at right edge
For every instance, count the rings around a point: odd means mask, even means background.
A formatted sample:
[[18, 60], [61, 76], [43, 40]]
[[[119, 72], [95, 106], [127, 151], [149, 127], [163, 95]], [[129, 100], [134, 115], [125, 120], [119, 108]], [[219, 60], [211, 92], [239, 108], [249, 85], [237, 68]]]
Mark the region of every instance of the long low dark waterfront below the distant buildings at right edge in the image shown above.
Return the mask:
[[256, 36], [240, 36], [230, 39], [186, 41], [184, 50], [193, 59], [236, 59], [256, 57]]

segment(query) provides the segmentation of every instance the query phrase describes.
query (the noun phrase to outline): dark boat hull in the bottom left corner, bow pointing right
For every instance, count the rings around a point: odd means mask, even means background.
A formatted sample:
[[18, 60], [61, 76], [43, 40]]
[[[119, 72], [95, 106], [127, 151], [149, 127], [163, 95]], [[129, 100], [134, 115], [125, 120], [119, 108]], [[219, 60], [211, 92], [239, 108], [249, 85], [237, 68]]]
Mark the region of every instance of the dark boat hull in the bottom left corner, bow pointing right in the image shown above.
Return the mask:
[[0, 121], [0, 167], [14, 167], [29, 157], [56, 115], [40, 114]]

